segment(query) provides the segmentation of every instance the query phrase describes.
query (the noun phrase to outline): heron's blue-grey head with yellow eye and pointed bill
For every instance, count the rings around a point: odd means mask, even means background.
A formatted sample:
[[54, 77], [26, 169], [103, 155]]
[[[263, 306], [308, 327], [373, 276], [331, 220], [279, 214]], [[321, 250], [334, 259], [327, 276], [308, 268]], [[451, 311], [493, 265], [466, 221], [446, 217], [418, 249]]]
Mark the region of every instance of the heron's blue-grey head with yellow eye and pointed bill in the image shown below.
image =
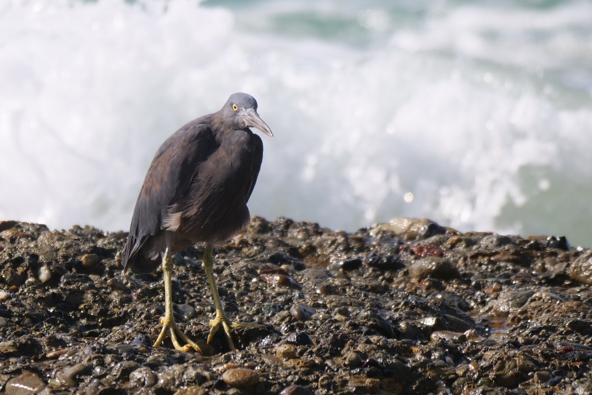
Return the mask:
[[223, 117], [230, 121], [236, 129], [256, 127], [268, 136], [274, 137], [269, 126], [257, 114], [257, 101], [246, 93], [235, 93], [230, 95], [224, 108]]

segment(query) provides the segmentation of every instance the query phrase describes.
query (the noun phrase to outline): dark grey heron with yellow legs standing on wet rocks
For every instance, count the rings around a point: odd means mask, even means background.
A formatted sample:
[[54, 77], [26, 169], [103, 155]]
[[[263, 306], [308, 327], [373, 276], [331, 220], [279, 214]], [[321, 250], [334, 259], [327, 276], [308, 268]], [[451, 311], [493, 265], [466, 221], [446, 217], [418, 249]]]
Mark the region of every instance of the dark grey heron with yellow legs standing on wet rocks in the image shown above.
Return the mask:
[[121, 263], [124, 271], [141, 274], [155, 271], [162, 262], [165, 316], [160, 319], [162, 330], [155, 347], [168, 335], [176, 349], [201, 352], [176, 325], [170, 282], [173, 255], [196, 243], [205, 243], [204, 268], [216, 309], [207, 342], [223, 327], [234, 350], [230, 328], [256, 326], [233, 324], [224, 313], [212, 259], [213, 246], [229, 240], [249, 222], [247, 200], [263, 158], [263, 143], [249, 127], [274, 136], [257, 114], [255, 99], [233, 94], [220, 111], [185, 124], [166, 139], [146, 173]]

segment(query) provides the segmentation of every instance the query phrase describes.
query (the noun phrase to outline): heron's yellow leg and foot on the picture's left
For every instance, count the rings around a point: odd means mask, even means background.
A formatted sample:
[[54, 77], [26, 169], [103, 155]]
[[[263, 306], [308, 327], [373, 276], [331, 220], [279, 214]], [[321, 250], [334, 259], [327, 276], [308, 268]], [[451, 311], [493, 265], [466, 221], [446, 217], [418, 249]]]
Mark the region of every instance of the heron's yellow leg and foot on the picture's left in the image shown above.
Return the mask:
[[[154, 346], [160, 346], [163, 339], [165, 339], [165, 336], [168, 334], [175, 349], [185, 352], [194, 349], [197, 352], [201, 352], [200, 346], [189, 339], [185, 333], [181, 332], [181, 329], [179, 329], [175, 322], [175, 318], [173, 317], [173, 296], [172, 285], [170, 282], [170, 275], [173, 272], [173, 257], [170, 255], [168, 248], [165, 251], [165, 256], [162, 258], [162, 272], [165, 282], [165, 316], [160, 318], [162, 330], [160, 330], [160, 335], [158, 335]], [[179, 343], [177, 336], [186, 343], [184, 346]]]

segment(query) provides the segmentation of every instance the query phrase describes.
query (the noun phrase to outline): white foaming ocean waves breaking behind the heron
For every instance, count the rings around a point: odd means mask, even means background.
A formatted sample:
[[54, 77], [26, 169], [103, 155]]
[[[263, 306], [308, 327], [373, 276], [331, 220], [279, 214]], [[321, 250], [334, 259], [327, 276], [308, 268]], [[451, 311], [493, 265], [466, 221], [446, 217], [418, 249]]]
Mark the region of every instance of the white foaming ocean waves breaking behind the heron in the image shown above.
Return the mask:
[[252, 214], [592, 246], [587, 0], [4, 0], [0, 219], [127, 230], [155, 150], [252, 94]]

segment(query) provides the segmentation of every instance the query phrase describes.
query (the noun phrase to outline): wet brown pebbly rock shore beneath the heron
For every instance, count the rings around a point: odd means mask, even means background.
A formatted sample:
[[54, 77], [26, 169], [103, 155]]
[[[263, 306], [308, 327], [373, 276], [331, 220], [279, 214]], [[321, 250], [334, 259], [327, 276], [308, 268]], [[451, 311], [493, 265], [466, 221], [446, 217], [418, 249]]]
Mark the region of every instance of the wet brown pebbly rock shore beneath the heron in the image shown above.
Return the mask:
[[592, 252], [562, 237], [395, 219], [355, 233], [253, 217], [214, 251], [227, 314], [205, 343], [202, 247], [176, 256], [179, 326], [153, 348], [162, 271], [123, 275], [126, 233], [0, 221], [7, 394], [590, 394]]

